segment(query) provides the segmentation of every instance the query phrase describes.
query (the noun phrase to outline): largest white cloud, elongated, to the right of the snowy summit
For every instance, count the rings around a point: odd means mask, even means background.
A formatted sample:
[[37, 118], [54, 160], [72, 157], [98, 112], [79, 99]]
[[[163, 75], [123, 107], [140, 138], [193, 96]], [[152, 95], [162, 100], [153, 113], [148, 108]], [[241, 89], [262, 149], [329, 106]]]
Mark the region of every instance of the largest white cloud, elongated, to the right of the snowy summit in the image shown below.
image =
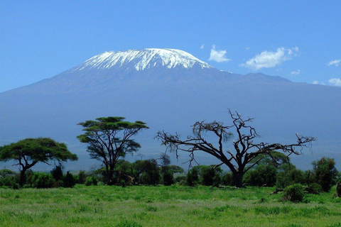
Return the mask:
[[240, 64], [240, 67], [247, 67], [252, 70], [260, 70], [261, 68], [271, 68], [281, 65], [287, 60], [291, 60], [298, 53], [298, 47], [295, 48], [277, 48], [276, 52], [263, 51], [247, 62]]

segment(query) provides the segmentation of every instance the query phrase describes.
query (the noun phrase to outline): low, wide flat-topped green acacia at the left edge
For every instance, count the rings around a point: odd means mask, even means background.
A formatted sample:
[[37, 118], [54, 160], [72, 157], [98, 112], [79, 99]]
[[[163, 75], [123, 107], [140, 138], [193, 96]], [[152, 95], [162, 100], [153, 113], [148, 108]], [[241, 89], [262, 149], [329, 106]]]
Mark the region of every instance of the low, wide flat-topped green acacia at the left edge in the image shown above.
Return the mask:
[[44, 162], [48, 165], [50, 160], [66, 162], [67, 160], [77, 160], [77, 155], [67, 150], [65, 143], [57, 143], [50, 138], [27, 138], [17, 143], [4, 145], [0, 147], [0, 160], [14, 160], [19, 166], [20, 179], [19, 184], [23, 187], [25, 184], [25, 172], [38, 162]]

